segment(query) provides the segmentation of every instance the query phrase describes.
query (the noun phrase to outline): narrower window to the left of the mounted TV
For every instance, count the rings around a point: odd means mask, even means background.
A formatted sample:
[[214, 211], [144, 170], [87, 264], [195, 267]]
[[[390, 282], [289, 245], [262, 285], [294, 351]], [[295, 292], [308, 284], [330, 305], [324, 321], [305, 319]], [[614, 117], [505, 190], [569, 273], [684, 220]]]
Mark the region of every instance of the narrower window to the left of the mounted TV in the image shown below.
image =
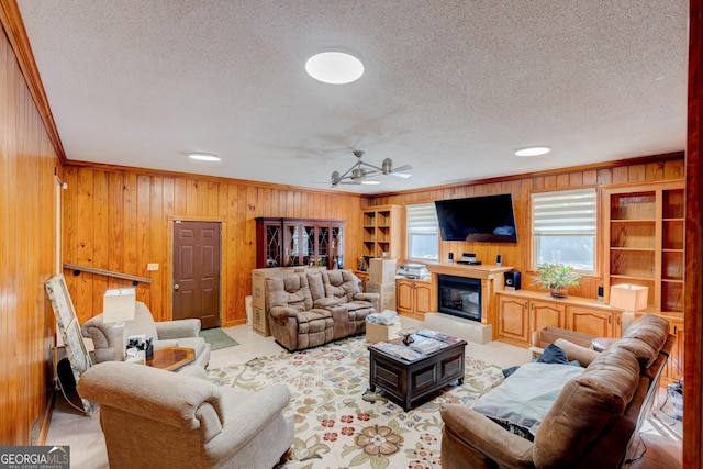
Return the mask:
[[408, 219], [408, 258], [437, 260], [439, 258], [439, 224], [434, 202], [405, 206]]

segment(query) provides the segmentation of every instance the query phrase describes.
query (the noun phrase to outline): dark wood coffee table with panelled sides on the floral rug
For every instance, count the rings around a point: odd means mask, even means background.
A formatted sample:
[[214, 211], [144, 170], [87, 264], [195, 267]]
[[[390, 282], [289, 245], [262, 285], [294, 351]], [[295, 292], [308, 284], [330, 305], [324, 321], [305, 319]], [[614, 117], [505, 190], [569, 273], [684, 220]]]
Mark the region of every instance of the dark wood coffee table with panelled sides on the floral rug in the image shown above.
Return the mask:
[[[417, 340], [423, 337], [416, 337]], [[403, 345], [402, 338], [386, 344]], [[404, 411], [429, 398], [451, 381], [464, 383], [466, 340], [457, 338], [444, 348], [426, 354], [417, 360], [406, 360], [380, 348], [383, 343], [369, 346], [371, 391], [381, 388], [398, 401]]]

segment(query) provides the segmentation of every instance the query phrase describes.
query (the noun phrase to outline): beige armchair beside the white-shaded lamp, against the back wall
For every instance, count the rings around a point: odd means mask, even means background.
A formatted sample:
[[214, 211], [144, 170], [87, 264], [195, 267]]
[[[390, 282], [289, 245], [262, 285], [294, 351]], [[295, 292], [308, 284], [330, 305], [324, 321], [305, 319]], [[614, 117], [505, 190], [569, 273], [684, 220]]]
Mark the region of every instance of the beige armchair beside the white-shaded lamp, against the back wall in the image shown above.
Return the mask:
[[[80, 328], [83, 337], [92, 339], [96, 362], [114, 360], [114, 324], [105, 324], [102, 314], [86, 321]], [[134, 321], [124, 323], [124, 337], [144, 334], [154, 338], [154, 348], [187, 347], [196, 350], [196, 362], [202, 368], [210, 361], [210, 344], [200, 333], [200, 320], [155, 322], [146, 304], [136, 302]]]

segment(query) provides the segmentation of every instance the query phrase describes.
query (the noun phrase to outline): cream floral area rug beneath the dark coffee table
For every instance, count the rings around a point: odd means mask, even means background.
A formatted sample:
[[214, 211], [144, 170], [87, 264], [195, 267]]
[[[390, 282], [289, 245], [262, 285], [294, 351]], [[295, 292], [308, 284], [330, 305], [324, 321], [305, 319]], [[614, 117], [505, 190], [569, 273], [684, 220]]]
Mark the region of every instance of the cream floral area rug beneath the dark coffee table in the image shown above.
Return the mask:
[[383, 391], [367, 393], [367, 348], [365, 337], [357, 336], [212, 369], [208, 377], [219, 386], [253, 391], [274, 381], [288, 384], [286, 412], [293, 415], [295, 440], [277, 468], [440, 468], [439, 406], [475, 400], [502, 377], [501, 368], [467, 356], [464, 384], [449, 386], [404, 412]]

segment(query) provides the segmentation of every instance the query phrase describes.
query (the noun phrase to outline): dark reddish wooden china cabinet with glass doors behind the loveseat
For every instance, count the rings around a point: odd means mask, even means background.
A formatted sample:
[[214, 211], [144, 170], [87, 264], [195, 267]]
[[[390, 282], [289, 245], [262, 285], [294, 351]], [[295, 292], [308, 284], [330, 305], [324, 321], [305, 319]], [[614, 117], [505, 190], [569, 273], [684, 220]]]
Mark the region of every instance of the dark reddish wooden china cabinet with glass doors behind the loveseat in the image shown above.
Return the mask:
[[256, 219], [256, 267], [344, 268], [344, 222]]

